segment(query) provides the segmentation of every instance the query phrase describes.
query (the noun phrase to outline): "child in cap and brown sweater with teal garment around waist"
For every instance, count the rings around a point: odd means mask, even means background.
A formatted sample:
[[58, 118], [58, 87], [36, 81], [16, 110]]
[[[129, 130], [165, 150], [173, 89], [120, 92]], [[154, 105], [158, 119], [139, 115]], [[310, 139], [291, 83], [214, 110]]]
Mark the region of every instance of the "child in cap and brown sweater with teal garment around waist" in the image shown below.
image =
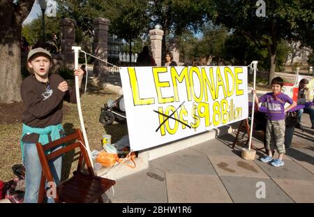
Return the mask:
[[[26, 109], [22, 114], [21, 150], [22, 162], [26, 169], [24, 202], [37, 202], [40, 186], [41, 165], [36, 142], [47, 144], [63, 137], [61, 126], [63, 100], [76, 103], [75, 89], [68, 86], [60, 75], [50, 74], [52, 56], [47, 50], [38, 47], [29, 51], [27, 69], [29, 75], [21, 84], [21, 96]], [[77, 69], [79, 87], [82, 84], [83, 70]], [[61, 178], [61, 157], [50, 162], [54, 181]], [[53, 202], [52, 198], [48, 202]]]

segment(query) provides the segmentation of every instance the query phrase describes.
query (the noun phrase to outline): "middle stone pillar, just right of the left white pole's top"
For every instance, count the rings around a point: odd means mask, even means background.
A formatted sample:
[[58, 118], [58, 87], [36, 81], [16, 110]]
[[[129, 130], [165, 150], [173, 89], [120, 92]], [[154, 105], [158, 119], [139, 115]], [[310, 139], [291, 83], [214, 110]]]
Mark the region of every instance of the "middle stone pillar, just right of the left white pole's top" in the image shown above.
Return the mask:
[[[108, 52], [108, 26], [110, 20], [99, 17], [94, 19], [94, 43], [93, 54], [99, 59], [107, 61]], [[107, 77], [108, 69], [107, 63], [95, 59], [93, 76], [95, 77]]]

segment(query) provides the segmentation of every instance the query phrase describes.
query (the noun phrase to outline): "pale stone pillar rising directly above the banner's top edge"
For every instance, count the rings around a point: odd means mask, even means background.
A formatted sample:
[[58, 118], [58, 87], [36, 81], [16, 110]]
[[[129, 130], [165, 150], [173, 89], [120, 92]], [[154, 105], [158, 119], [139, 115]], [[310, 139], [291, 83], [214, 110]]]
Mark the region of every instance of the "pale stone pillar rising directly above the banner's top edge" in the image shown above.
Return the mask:
[[157, 66], [161, 66], [161, 43], [163, 41], [163, 30], [151, 29], [149, 31], [149, 38], [151, 38], [151, 53], [153, 54]]

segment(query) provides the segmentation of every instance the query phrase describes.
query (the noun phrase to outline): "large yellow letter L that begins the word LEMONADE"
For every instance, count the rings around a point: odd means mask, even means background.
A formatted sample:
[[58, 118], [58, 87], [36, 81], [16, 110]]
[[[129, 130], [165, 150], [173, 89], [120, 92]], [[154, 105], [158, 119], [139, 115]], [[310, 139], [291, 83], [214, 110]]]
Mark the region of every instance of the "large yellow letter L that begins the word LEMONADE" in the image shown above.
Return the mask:
[[133, 67], [128, 67], [128, 75], [130, 77], [130, 87], [132, 89], [134, 105], [155, 104], [154, 98], [140, 98], [140, 91], [138, 89], [137, 77], [135, 74], [135, 69]]

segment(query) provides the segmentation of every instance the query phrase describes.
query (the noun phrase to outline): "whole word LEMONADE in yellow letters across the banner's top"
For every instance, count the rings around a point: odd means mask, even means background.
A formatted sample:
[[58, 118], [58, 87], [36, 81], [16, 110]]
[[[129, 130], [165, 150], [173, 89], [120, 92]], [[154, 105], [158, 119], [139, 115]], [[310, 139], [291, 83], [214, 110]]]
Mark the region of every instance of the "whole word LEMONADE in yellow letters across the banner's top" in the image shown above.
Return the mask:
[[[223, 69], [224, 77], [220, 72], [220, 67], [216, 68], [216, 77], [214, 77], [213, 67], [199, 68], [192, 66], [190, 70], [188, 70], [188, 67], [184, 67], [180, 73], [177, 72], [177, 68], [171, 67], [170, 76], [173, 86], [173, 96], [167, 97], [163, 97], [162, 89], [170, 87], [170, 81], [160, 81], [160, 75], [167, 73], [167, 67], [154, 67], [152, 70], [159, 104], [172, 103], [174, 101], [179, 102], [178, 83], [183, 82], [185, 82], [188, 101], [194, 100], [195, 103], [208, 102], [209, 96], [211, 96], [212, 100], [216, 100], [219, 97], [220, 91], [223, 91], [223, 98], [233, 96], [234, 90], [236, 96], [244, 94], [244, 90], [239, 89], [239, 85], [243, 82], [239, 79], [239, 74], [243, 73], [243, 68], [241, 67], [234, 67], [234, 71], [232, 71], [226, 66]], [[134, 105], [154, 104], [155, 98], [140, 98], [140, 90], [134, 67], [128, 67], [128, 74]], [[196, 82], [199, 83], [199, 86], [196, 86], [200, 87], [199, 94], [195, 92]]]

